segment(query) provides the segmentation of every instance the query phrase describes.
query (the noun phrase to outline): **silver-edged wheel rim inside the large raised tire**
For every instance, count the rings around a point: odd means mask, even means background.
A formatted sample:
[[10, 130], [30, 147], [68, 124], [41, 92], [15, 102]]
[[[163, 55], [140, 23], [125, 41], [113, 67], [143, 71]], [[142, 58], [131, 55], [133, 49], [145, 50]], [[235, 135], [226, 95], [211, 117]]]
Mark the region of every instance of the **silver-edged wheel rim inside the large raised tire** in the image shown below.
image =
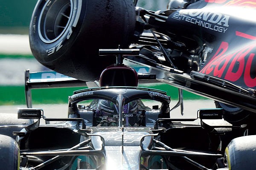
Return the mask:
[[38, 20], [38, 34], [43, 42], [54, 42], [64, 34], [72, 17], [72, 9], [72, 0], [47, 0]]

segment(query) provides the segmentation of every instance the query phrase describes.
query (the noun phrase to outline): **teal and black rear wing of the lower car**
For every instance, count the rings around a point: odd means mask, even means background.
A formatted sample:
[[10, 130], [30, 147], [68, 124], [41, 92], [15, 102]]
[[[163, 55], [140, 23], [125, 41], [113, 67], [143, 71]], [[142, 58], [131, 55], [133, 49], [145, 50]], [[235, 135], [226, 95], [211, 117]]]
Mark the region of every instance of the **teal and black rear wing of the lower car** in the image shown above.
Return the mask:
[[[134, 67], [134, 69], [138, 73], [138, 79], [140, 84], [158, 82], [156, 80], [156, 74], [149, 74], [147, 67]], [[143, 73], [141, 73], [141, 71], [143, 71]], [[68, 77], [55, 71], [30, 73], [28, 69], [25, 71], [26, 106], [27, 108], [32, 108], [32, 89], [69, 87], [95, 88], [99, 87], [99, 82], [98, 80], [95, 80], [93, 82], [85, 82], [83, 80]]]

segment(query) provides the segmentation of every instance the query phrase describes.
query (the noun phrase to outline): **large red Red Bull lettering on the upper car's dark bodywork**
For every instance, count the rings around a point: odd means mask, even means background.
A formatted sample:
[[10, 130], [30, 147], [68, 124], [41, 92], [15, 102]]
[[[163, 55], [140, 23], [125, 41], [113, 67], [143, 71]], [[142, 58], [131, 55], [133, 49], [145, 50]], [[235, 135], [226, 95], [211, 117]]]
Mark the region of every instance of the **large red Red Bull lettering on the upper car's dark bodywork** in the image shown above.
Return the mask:
[[[236, 31], [236, 34], [250, 40], [253, 38], [251, 35], [238, 31]], [[256, 43], [251, 43], [236, 51], [231, 50], [232, 48], [228, 42], [221, 42], [212, 59], [200, 72], [226, 79], [230, 82], [239, 82], [239, 84], [246, 85], [249, 88], [256, 87], [256, 60], [254, 53]]]

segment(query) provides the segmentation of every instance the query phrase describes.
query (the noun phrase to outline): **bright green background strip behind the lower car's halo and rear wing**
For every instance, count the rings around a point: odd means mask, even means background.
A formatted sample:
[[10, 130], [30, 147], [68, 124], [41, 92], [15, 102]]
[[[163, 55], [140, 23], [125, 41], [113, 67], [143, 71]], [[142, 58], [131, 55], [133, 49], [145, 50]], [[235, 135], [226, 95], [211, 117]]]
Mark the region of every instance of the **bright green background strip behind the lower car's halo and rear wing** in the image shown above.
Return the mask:
[[[171, 96], [171, 100], [178, 99], [178, 90], [170, 85], [160, 84], [147, 86], [167, 92]], [[33, 104], [60, 104], [67, 103], [68, 96], [73, 94], [73, 91], [82, 88], [49, 88], [49, 89], [32, 89]], [[25, 90], [23, 86], [0, 86], [0, 105], [25, 105]], [[187, 91], [183, 91], [183, 99], [206, 99]]]

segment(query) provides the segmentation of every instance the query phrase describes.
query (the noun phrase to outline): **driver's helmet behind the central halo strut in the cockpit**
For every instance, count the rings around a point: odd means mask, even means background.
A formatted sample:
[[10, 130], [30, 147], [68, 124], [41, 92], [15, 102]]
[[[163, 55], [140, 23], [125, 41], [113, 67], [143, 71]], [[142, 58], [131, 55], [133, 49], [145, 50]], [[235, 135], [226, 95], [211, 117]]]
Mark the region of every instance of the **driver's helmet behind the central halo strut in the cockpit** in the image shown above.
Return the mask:
[[[132, 101], [124, 105], [122, 111], [124, 113], [124, 122], [126, 126], [134, 126], [137, 122], [137, 102]], [[100, 99], [96, 108], [96, 117], [101, 117], [101, 121], [118, 122], [118, 107], [111, 101]]]

